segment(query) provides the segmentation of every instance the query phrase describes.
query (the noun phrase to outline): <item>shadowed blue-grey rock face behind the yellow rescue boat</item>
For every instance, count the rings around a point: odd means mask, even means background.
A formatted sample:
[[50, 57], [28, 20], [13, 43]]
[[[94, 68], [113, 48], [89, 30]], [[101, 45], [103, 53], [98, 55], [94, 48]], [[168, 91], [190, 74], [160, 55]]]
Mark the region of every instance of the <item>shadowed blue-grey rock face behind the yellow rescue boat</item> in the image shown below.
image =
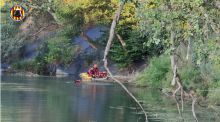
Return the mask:
[[[97, 39], [102, 36], [103, 30], [106, 30], [106, 28], [101, 27], [101, 26], [94, 26], [94, 27], [89, 28], [86, 31], [86, 34], [93, 41], [97, 41]], [[81, 36], [73, 37], [72, 41], [74, 44], [80, 47], [80, 50], [76, 56], [75, 61], [72, 62], [70, 66], [66, 69], [64, 69], [63, 67], [59, 67], [58, 68], [59, 71], [62, 70], [63, 72], [66, 72], [68, 74], [75, 75], [75, 77], [78, 77], [79, 73], [86, 72], [93, 63], [99, 63], [99, 64], [102, 63], [102, 55], [100, 55], [102, 53], [100, 52], [103, 52], [103, 50], [94, 49]], [[57, 73], [60, 73], [60, 72], [57, 72]]]

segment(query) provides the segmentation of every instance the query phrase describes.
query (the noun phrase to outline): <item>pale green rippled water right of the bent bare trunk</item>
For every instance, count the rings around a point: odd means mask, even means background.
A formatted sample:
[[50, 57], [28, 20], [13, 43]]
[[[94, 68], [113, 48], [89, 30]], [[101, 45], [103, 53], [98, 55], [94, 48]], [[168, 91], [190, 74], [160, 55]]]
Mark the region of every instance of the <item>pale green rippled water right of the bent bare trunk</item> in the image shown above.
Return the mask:
[[[130, 88], [148, 112], [150, 122], [194, 122], [191, 102], [184, 103], [183, 119], [179, 116], [174, 99], [168, 98], [161, 91], [154, 88]], [[210, 108], [195, 106], [199, 122], [219, 122], [220, 108], [213, 111]]]

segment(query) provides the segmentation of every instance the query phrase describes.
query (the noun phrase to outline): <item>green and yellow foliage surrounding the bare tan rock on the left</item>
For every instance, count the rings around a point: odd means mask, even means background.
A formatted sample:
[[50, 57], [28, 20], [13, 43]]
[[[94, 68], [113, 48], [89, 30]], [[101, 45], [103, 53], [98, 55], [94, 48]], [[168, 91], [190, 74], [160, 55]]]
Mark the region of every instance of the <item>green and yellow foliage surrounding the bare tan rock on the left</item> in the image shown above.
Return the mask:
[[[17, 1], [16, 1], [17, 2]], [[19, 1], [18, 1], [19, 2]], [[62, 4], [61, 4], [62, 3]], [[48, 66], [64, 64], [68, 65], [73, 59], [76, 53], [77, 47], [71, 43], [71, 38], [79, 35], [82, 31], [85, 31], [90, 25], [93, 24], [109, 24], [111, 22], [112, 13], [115, 12], [118, 0], [116, 1], [99, 1], [99, 0], [32, 0], [23, 1], [27, 10], [30, 10], [29, 15], [38, 17], [39, 14], [50, 14], [59, 24], [59, 30], [54, 38], [46, 40], [42, 47], [39, 49], [40, 54], [36, 59], [30, 62], [20, 62], [14, 64], [14, 67], [22, 69], [22, 67], [28, 71], [32, 70], [35, 73], [45, 74], [47, 73]], [[7, 4], [12, 6], [13, 2], [9, 1]], [[7, 7], [1, 8], [2, 12], [6, 11]], [[37, 10], [31, 11], [31, 8]], [[30, 17], [28, 16], [28, 17]], [[10, 22], [10, 21], [7, 21]], [[7, 57], [12, 54], [16, 54], [19, 57], [21, 48], [25, 45], [25, 40], [13, 35], [19, 35], [19, 24], [4, 25], [3, 41], [1, 56], [5, 61], [8, 61]], [[16, 32], [15, 32], [16, 31]], [[29, 40], [27, 40], [29, 41]], [[3, 46], [4, 45], [4, 46]], [[26, 65], [34, 65], [33, 69], [26, 68]]]

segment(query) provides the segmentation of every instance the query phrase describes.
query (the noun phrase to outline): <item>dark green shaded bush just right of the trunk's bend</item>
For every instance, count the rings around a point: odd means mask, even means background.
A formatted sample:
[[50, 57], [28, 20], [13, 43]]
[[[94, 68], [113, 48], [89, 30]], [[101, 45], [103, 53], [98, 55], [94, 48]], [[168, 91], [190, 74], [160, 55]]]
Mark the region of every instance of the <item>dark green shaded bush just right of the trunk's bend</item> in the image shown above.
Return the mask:
[[111, 60], [115, 61], [120, 67], [128, 67], [134, 63], [143, 61], [147, 56], [160, 54], [162, 50], [159, 46], [144, 46], [147, 38], [140, 37], [139, 33], [135, 30], [127, 31], [126, 35], [127, 37], [124, 39], [126, 45], [124, 48], [120, 41], [115, 39], [114, 46], [110, 50]]

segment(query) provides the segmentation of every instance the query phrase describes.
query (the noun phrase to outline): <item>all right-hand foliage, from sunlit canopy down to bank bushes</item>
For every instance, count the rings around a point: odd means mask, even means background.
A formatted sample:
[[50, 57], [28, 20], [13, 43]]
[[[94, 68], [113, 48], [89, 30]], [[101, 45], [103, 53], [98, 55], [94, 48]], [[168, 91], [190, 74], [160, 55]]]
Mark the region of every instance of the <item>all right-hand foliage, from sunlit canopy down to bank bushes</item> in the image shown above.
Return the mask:
[[177, 48], [189, 45], [191, 59], [185, 62], [185, 56], [178, 57], [178, 73], [186, 90], [203, 97], [219, 82], [219, 16], [213, 1], [204, 0], [140, 1], [137, 8], [140, 34], [149, 38], [147, 46], [160, 44], [166, 53], [179, 56], [183, 52]]

